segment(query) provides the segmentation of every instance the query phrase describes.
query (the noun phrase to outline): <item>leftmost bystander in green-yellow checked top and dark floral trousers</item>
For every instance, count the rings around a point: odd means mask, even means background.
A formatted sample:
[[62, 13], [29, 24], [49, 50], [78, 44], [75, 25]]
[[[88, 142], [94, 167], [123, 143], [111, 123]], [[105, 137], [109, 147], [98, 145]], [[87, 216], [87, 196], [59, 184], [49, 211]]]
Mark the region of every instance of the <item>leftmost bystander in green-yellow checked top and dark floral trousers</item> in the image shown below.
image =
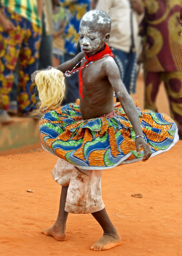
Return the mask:
[[7, 113], [19, 58], [18, 113], [27, 116], [34, 108], [35, 84], [31, 73], [37, 69], [40, 45], [41, 0], [1, 0], [0, 11], [0, 123], [12, 122]]

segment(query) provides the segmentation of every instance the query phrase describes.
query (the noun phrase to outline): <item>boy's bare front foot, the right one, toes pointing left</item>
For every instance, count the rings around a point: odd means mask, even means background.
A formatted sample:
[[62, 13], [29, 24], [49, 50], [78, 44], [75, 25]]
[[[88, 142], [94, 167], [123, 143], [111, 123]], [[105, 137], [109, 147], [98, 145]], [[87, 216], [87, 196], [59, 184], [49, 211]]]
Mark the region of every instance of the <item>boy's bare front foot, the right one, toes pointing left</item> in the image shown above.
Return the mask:
[[118, 246], [121, 244], [121, 237], [118, 233], [113, 235], [103, 235], [101, 239], [99, 239], [97, 242], [95, 242], [91, 247], [90, 250], [94, 251], [104, 251], [111, 249], [115, 246]]

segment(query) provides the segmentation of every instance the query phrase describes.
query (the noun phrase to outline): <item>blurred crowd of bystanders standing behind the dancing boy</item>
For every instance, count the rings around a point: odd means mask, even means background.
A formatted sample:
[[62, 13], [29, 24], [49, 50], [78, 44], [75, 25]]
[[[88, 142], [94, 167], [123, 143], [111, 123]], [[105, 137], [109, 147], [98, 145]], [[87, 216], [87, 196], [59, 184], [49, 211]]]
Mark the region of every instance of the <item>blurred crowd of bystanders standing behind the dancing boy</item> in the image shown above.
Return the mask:
[[[163, 81], [182, 139], [181, 0], [0, 0], [0, 8], [1, 124], [13, 122], [12, 115], [41, 117], [34, 114], [39, 98], [31, 74], [73, 58], [82, 16], [100, 9], [112, 19], [108, 45], [127, 91], [135, 93], [142, 64], [144, 108], [157, 112]], [[63, 105], [79, 98], [78, 74], [65, 84]]]

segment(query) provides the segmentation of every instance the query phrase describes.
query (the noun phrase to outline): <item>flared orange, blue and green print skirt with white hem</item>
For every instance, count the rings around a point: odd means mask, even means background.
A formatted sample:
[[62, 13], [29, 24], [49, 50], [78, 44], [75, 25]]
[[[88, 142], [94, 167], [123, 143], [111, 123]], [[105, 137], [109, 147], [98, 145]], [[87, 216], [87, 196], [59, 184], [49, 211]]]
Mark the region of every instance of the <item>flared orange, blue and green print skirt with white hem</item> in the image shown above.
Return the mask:
[[[152, 155], [169, 150], [178, 141], [175, 122], [165, 114], [141, 110], [136, 101], [141, 128]], [[39, 123], [42, 147], [87, 170], [100, 170], [143, 159], [137, 153], [135, 131], [123, 108], [114, 107], [115, 116], [82, 119], [79, 100], [46, 113]]]

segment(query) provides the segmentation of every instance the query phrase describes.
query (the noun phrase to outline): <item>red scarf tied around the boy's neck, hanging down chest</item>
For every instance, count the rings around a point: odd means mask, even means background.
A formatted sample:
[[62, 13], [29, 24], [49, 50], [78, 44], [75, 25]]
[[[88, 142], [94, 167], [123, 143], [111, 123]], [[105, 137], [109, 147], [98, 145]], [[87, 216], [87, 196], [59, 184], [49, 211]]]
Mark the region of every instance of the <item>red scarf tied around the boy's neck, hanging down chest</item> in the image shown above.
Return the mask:
[[85, 55], [85, 58], [86, 58], [86, 62], [84, 63], [84, 65], [81, 67], [81, 70], [79, 72], [79, 84], [80, 84], [80, 88], [79, 88], [79, 92], [80, 92], [80, 96], [81, 96], [81, 100], [83, 102], [83, 80], [82, 80], [82, 69], [83, 67], [85, 67], [87, 65], [87, 63], [89, 61], [96, 61], [96, 60], [100, 60], [102, 59], [103, 57], [105, 57], [106, 55], [109, 55], [111, 56], [112, 58], [114, 58], [114, 55], [112, 54], [112, 51], [111, 49], [109, 48], [109, 46], [105, 43], [104, 45], [104, 49], [103, 51], [100, 51], [90, 57], [88, 57], [87, 55]]

